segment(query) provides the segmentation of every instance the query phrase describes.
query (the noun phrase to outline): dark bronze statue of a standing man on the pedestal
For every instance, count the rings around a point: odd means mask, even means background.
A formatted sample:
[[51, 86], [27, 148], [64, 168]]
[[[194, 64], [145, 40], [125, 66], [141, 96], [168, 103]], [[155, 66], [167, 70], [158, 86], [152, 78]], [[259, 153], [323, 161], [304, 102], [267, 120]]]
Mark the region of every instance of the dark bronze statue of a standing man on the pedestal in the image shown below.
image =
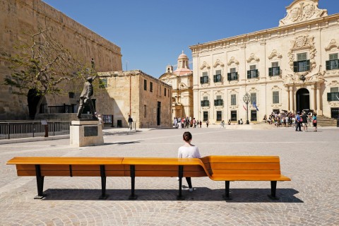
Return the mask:
[[93, 96], [93, 85], [92, 81], [94, 78], [88, 77], [87, 82], [83, 85], [83, 92], [81, 92], [80, 95], [80, 106], [78, 109], [78, 119], [81, 119], [81, 114], [83, 113], [83, 105], [89, 105], [90, 107], [90, 113], [92, 114], [92, 119], [97, 119], [94, 112], [94, 106], [92, 102], [92, 96]]

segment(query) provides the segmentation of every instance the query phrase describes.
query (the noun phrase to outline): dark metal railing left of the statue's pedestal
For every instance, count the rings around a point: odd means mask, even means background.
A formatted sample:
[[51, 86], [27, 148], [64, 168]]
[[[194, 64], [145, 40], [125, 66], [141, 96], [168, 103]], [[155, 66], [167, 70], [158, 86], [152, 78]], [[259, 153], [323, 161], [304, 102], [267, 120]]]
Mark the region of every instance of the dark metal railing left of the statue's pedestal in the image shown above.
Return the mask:
[[[68, 135], [71, 121], [47, 121], [49, 136]], [[45, 126], [41, 121], [0, 122], [0, 140], [45, 136]]]

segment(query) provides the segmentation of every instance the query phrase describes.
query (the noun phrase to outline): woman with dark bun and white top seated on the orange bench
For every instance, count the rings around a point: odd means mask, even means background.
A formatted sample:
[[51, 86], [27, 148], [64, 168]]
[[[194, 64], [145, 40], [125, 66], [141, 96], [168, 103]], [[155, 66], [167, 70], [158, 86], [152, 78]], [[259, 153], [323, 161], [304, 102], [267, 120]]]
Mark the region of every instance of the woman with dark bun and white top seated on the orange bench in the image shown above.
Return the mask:
[[[191, 158], [200, 158], [198, 147], [191, 144], [192, 134], [190, 132], [184, 132], [182, 135], [184, 140], [184, 145], [182, 145], [178, 150], [178, 157], [191, 157]], [[186, 182], [189, 184], [189, 191], [193, 191], [193, 186], [191, 182], [191, 177], [186, 177]]]

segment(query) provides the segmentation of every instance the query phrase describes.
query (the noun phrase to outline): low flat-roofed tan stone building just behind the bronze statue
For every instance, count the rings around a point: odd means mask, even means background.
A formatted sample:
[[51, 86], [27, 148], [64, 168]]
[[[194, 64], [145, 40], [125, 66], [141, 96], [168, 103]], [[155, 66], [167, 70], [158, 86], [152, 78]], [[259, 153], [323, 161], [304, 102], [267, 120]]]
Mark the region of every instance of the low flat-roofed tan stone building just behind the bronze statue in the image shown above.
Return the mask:
[[138, 70], [98, 75], [105, 88], [95, 94], [96, 110], [104, 120], [113, 116], [112, 126], [127, 127], [129, 114], [137, 128], [172, 126], [170, 85]]

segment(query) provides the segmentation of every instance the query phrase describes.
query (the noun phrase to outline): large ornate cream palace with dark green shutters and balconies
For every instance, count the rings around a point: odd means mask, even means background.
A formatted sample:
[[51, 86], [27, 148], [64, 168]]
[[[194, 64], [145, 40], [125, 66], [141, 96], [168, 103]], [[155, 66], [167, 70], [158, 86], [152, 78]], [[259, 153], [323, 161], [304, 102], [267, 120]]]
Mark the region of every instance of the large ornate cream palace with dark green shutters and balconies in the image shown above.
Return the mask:
[[295, 0], [286, 8], [277, 28], [190, 47], [194, 117], [244, 120], [246, 93], [250, 121], [303, 109], [338, 117], [339, 13], [328, 16], [318, 0]]

